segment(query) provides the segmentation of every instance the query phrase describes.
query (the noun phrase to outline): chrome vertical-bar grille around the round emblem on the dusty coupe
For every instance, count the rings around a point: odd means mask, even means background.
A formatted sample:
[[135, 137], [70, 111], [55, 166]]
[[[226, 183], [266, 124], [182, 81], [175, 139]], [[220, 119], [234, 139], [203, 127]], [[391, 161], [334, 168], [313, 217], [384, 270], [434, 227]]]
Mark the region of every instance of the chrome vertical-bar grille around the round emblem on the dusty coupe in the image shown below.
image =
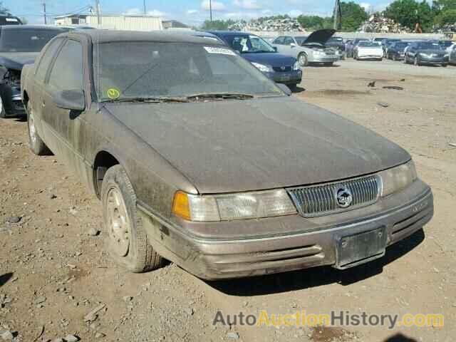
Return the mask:
[[[287, 191], [299, 214], [304, 217], [317, 217], [366, 207], [377, 202], [380, 195], [380, 184], [380, 177], [373, 175], [345, 182], [294, 187]], [[351, 191], [353, 198], [351, 205], [346, 208], [339, 207], [336, 199], [336, 193], [343, 187]]]

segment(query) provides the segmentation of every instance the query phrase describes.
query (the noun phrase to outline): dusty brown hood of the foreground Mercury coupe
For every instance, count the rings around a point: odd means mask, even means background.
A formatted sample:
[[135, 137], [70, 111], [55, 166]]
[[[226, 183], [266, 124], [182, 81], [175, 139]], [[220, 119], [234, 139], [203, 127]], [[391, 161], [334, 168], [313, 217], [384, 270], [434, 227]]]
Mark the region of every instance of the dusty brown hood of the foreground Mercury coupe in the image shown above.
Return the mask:
[[410, 160], [373, 131], [288, 97], [106, 108], [199, 193], [342, 180]]

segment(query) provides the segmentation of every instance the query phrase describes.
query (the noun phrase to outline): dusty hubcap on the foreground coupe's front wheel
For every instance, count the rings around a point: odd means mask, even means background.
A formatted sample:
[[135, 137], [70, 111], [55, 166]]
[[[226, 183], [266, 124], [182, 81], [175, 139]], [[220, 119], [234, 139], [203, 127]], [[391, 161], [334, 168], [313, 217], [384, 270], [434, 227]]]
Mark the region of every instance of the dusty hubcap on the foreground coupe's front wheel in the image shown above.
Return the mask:
[[130, 219], [128, 219], [123, 197], [116, 188], [112, 188], [108, 192], [107, 211], [111, 245], [120, 257], [125, 257], [130, 247]]

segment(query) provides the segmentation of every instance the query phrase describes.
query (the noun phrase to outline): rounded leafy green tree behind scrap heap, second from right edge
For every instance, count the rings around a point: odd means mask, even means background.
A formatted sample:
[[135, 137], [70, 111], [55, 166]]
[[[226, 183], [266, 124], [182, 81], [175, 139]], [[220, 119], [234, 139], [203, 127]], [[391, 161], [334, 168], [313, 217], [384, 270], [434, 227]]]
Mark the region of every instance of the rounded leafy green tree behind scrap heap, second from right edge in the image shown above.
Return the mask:
[[[447, 1], [447, 0], [445, 0]], [[385, 16], [410, 29], [419, 23], [427, 31], [432, 27], [435, 9], [427, 1], [395, 0], [385, 9]]]

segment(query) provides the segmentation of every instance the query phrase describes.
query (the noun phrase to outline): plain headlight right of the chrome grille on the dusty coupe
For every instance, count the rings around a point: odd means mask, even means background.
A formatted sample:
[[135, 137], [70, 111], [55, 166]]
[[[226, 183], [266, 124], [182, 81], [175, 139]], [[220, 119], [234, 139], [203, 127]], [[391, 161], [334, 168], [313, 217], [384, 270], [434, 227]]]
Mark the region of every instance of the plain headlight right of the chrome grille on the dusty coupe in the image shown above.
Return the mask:
[[405, 189], [417, 179], [413, 160], [392, 169], [380, 172], [382, 179], [382, 197]]

